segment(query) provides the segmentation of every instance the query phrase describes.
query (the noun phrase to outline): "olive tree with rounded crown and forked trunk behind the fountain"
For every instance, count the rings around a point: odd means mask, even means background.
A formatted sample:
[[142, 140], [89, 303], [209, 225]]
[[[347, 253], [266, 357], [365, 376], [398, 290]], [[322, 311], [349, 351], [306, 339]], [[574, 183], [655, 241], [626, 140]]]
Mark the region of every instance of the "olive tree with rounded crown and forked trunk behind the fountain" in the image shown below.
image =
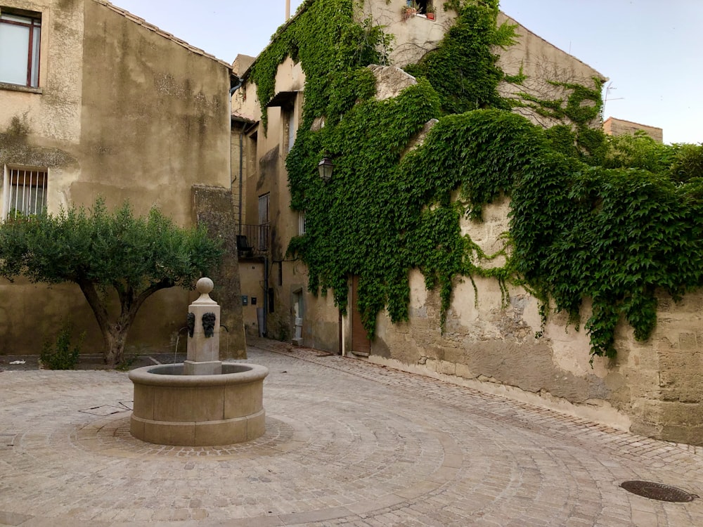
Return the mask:
[[151, 294], [193, 287], [221, 254], [205, 228], [180, 228], [155, 208], [136, 217], [128, 202], [110, 212], [101, 198], [88, 210], [11, 214], [0, 226], [0, 275], [77, 284], [103, 334], [108, 365], [122, 362], [129, 328]]

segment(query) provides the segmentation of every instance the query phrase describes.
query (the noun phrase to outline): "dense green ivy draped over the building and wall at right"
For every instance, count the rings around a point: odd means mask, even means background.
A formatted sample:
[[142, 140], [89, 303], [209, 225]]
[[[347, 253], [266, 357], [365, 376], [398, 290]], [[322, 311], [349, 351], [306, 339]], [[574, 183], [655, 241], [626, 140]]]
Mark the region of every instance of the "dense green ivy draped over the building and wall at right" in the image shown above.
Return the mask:
[[[637, 166], [649, 145], [627, 150], [588, 126], [600, 115], [598, 85], [561, 83], [570, 95], [558, 100], [522, 94], [517, 104], [563, 123], [534, 126], [507, 111], [515, 102], [496, 90], [504, 76], [493, 46], [515, 38], [510, 26], [496, 26], [497, 1], [446, 8], [456, 11], [456, 25], [436, 51], [408, 67], [418, 84], [390, 100], [373, 98], [365, 66], [383, 62], [391, 38], [369, 20], [355, 22], [356, 0], [307, 1], [254, 63], [264, 115], [286, 56], [300, 60], [306, 74], [304, 119], [287, 168], [291, 207], [306, 212], [306, 234], [289, 252], [307, 263], [309, 289], [331, 290], [344, 311], [348, 280], [359, 276], [358, 307], [370, 337], [384, 309], [394, 322], [408, 319], [408, 272], [417, 268], [428, 288], [439, 289], [441, 323], [453, 283], [488, 276], [503, 288], [524, 285], [574, 322], [583, 299], [591, 299], [585, 327], [596, 355], [614, 354], [620, 318], [636, 338], [647, 338], [657, 291], [678, 298], [703, 285], [703, 180], [696, 172], [703, 147], [664, 148], [666, 160]], [[325, 126], [311, 126], [318, 117]], [[408, 152], [430, 119], [439, 122]], [[317, 174], [323, 156], [335, 162], [329, 183]], [[510, 196], [508, 258], [487, 268], [492, 255], [461, 234], [460, 221], [480, 221], [484, 204], [500, 195]]]

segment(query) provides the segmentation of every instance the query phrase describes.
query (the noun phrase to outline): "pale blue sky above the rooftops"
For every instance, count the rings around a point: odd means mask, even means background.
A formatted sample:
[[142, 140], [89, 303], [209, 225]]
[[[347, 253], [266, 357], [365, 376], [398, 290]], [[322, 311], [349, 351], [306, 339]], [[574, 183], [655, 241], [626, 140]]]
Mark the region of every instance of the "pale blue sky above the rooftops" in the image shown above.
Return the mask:
[[[228, 63], [257, 56], [285, 22], [285, 0], [112, 3]], [[703, 143], [702, 0], [501, 0], [501, 10], [608, 77], [605, 118]]]

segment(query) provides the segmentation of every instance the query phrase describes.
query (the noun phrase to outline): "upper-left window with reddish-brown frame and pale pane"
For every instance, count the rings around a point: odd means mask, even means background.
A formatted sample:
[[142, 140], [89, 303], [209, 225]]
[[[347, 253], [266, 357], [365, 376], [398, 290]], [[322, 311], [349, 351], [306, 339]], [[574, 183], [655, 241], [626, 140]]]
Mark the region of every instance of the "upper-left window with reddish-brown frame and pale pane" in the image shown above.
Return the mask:
[[41, 18], [0, 10], [0, 82], [39, 86]]

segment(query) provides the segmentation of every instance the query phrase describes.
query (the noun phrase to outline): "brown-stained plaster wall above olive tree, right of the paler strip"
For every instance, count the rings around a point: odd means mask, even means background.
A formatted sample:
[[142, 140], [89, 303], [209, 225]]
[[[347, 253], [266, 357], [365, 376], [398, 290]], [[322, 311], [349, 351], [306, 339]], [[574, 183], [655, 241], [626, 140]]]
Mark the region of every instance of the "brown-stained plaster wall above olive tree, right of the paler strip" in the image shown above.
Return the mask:
[[229, 188], [226, 65], [89, 1], [83, 79], [75, 201], [129, 198], [189, 225], [193, 184]]

